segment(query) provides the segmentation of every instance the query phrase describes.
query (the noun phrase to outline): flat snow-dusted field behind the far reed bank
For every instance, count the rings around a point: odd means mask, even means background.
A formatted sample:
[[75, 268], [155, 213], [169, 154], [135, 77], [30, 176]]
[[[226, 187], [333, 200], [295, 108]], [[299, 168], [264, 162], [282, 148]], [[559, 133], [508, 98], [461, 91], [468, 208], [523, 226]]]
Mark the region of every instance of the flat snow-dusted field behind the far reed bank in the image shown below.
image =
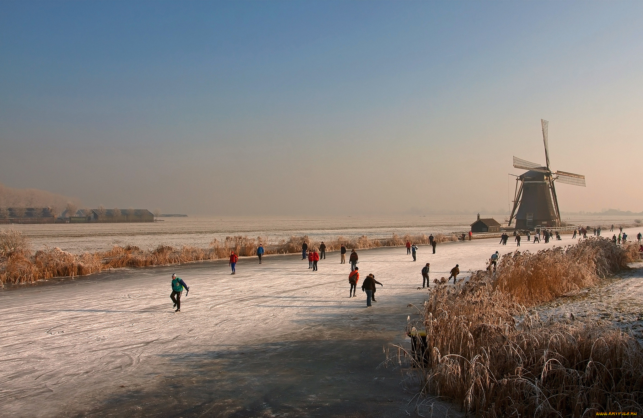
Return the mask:
[[[493, 216], [502, 223], [505, 215]], [[156, 248], [159, 244], [206, 247], [213, 239], [228, 235], [267, 237], [270, 242], [288, 239], [291, 235], [309, 235], [314, 240], [329, 241], [338, 235], [371, 238], [390, 237], [393, 233], [419, 235], [422, 233], [466, 232], [475, 216], [406, 216], [406, 217], [168, 217], [158, 223], [119, 224], [41, 224], [2, 225], [14, 228], [30, 237], [34, 250], [43, 246], [81, 253], [106, 251], [114, 245], [136, 245]], [[631, 224], [629, 217], [577, 216], [566, 222], [583, 225]]]

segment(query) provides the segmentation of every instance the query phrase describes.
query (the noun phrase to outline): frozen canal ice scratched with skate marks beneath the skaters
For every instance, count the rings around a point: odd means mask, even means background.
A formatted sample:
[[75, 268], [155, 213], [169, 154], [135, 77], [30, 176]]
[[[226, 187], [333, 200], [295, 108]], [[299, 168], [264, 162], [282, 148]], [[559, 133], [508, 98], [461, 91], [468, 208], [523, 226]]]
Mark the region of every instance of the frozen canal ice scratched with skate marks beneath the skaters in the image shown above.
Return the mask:
[[[377, 366], [404, 340], [417, 313], [407, 304], [426, 296], [420, 269], [430, 262], [433, 280], [459, 264], [466, 276], [494, 251], [516, 249], [498, 241], [443, 243], [435, 255], [421, 246], [417, 262], [406, 248], [358, 251], [361, 276], [385, 285], [370, 308], [359, 290], [347, 297], [350, 268], [338, 253], [317, 272], [278, 255], [241, 259], [234, 276], [218, 261], [14, 287], [0, 293], [2, 415], [408, 416], [413, 394], [399, 370]], [[176, 314], [174, 271], [190, 286]]]

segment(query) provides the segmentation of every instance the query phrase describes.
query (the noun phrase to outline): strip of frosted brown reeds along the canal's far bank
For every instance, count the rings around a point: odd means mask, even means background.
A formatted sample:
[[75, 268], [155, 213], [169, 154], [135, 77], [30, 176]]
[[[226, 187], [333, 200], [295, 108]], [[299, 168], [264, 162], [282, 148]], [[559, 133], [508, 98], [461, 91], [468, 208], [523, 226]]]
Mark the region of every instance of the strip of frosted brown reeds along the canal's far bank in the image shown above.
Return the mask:
[[[455, 235], [435, 235], [437, 242], [457, 241]], [[382, 246], [401, 246], [406, 241], [428, 244], [428, 235], [393, 235], [387, 239], [361, 237], [337, 237], [325, 241], [326, 251], [339, 250], [344, 244], [351, 248], [364, 249]], [[313, 242], [307, 235], [291, 237], [280, 242], [267, 242], [262, 237], [227, 237], [224, 241], [213, 240], [208, 248], [183, 246], [174, 248], [159, 245], [154, 250], [141, 250], [136, 246], [114, 246], [112, 250], [96, 253], [73, 254], [59, 248], [35, 251], [24, 235], [14, 230], [0, 231], [0, 286], [5, 283], [35, 282], [53, 277], [75, 277], [98, 271], [123, 267], [162, 266], [200, 260], [227, 259], [235, 251], [240, 257], [255, 255], [258, 244], [263, 244], [266, 254], [298, 253], [303, 242], [309, 248], [318, 248], [320, 242]]]

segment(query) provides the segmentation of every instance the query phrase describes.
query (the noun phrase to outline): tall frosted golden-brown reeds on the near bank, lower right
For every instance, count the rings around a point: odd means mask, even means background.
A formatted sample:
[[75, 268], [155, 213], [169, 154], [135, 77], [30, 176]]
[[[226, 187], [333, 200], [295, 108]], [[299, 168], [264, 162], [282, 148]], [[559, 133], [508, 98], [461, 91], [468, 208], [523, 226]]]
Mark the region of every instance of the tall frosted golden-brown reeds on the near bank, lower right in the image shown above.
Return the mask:
[[528, 311], [627, 268], [637, 247], [590, 238], [564, 249], [516, 251], [494, 275], [477, 271], [456, 286], [439, 284], [417, 325], [426, 331], [424, 358], [413, 359], [422, 392], [485, 417], [640, 412], [643, 351], [635, 338], [606, 322], [543, 320]]

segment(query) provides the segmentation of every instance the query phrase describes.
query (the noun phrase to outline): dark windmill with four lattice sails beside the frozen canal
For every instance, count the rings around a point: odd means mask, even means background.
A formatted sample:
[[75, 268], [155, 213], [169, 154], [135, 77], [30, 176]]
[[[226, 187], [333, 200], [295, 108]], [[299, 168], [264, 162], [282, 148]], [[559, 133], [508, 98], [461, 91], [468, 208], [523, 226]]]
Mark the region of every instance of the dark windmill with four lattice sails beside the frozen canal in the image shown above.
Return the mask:
[[553, 172], [549, 168], [548, 122], [542, 119], [540, 122], [543, 126], [547, 166], [541, 167], [539, 164], [514, 156], [514, 167], [529, 170], [516, 178], [514, 208], [509, 217], [509, 226], [516, 219], [516, 229], [533, 230], [534, 226], [547, 228], [561, 226], [561, 214], [554, 182], [585, 186], [585, 176], [564, 171]]

